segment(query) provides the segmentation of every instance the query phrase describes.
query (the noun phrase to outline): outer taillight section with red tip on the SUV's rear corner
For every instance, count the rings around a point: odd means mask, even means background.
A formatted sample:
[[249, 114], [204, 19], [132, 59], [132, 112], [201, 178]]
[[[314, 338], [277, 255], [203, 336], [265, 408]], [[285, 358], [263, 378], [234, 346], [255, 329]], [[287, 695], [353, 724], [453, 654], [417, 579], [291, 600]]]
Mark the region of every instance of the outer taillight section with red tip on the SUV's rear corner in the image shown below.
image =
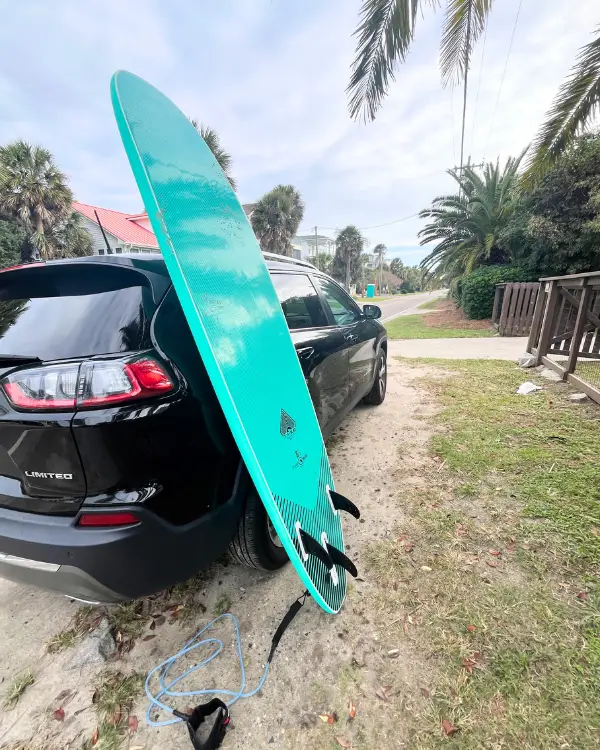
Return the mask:
[[102, 406], [147, 398], [173, 390], [173, 382], [154, 359], [87, 362], [80, 406]]

